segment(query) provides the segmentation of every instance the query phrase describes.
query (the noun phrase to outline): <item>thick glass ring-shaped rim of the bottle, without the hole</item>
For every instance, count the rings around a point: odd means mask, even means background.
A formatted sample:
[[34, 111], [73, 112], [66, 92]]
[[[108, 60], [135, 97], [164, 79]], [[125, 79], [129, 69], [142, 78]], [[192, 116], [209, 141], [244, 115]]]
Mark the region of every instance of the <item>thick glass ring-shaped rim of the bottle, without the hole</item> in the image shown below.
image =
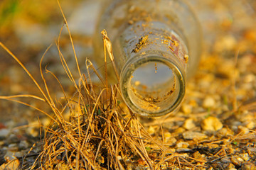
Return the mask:
[[[130, 58], [130, 60], [128, 60], [126, 64], [124, 64], [124, 67], [120, 74], [120, 89], [124, 102], [127, 103], [127, 106], [134, 113], [146, 117], [158, 117], [175, 111], [179, 104], [183, 101], [186, 91], [185, 69], [182, 67], [181, 62], [177, 60], [177, 57], [171, 55], [173, 54], [163, 53], [159, 51], [143, 52]], [[174, 98], [173, 102], [170, 103], [170, 105], [167, 104], [166, 108], [164, 109], [155, 109], [154, 111], [152, 111], [151, 109], [146, 110], [140, 107], [142, 106], [142, 104], [138, 104], [137, 100], [135, 100], [134, 98], [134, 95], [131, 95], [132, 75], [135, 70], [137, 70], [139, 67], [147, 62], [159, 62], [165, 64], [172, 70], [173, 74], [176, 77], [176, 81], [178, 81], [178, 92], [176, 91], [177, 95], [174, 96], [176, 98]]]

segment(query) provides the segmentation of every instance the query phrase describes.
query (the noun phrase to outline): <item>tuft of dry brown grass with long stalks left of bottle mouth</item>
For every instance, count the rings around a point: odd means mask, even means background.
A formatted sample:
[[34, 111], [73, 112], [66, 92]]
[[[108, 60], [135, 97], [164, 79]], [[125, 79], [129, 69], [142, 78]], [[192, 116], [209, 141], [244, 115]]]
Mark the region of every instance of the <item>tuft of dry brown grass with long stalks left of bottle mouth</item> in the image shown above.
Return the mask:
[[[60, 51], [62, 27], [58, 41], [55, 43], [58, 48], [61, 64], [76, 89], [76, 93], [72, 97], [68, 97], [58, 78], [46, 68], [46, 73], [52, 74], [63, 90], [63, 100], [65, 100], [65, 104], [61, 107], [58, 101], [56, 102], [53, 96], [51, 96], [48, 82], [46, 82], [44, 78], [43, 68], [41, 67], [43, 57], [50, 47], [48, 47], [40, 62], [41, 78], [44, 83], [44, 86], [41, 86], [28, 69], [18, 60], [18, 57], [0, 42], [1, 47], [21, 65], [43, 96], [26, 94], [0, 96], [0, 98], [30, 106], [47, 115], [52, 121], [49, 127], [41, 127], [44, 130], [43, 150], [41, 154], [39, 154], [31, 167], [24, 166], [21, 168], [131, 169], [138, 164], [138, 162], [134, 163], [134, 160], [139, 160], [140, 164], [150, 169], [159, 169], [159, 166], [166, 161], [164, 160], [166, 159], [166, 155], [170, 154], [171, 151], [164, 147], [161, 142], [155, 141], [149, 133], [146, 132], [134, 113], [131, 111], [124, 113], [123, 107], [120, 107], [119, 101], [117, 101], [119, 84], [109, 86], [107, 84], [107, 74], [105, 74], [105, 79], [100, 77], [100, 74], [90, 60], [86, 61], [87, 76], [80, 72], [73, 39], [68, 28], [68, 22], [66, 21], [61, 7], [60, 11], [64, 18], [63, 27], [66, 26], [68, 29], [75, 61], [77, 63], [77, 72], [80, 75], [80, 79], [78, 83], [76, 83], [65, 61], [65, 57]], [[102, 35], [105, 46], [105, 59], [107, 57], [107, 50], [112, 63], [114, 63], [111, 42], [109, 38], [107, 38], [105, 31], [102, 32]], [[107, 70], [107, 64], [105, 64], [105, 70]], [[101, 84], [95, 85], [94, 82], [92, 82], [90, 78], [91, 72], [97, 74], [98, 79], [102, 82]], [[23, 97], [46, 102], [51, 108], [52, 113], [46, 113], [28, 103], [16, 99]], [[70, 120], [63, 118], [65, 111], [69, 111]], [[146, 147], [148, 145], [152, 146], [153, 144], [156, 148], [150, 147], [150, 149], [161, 150], [161, 154], [157, 154], [154, 158], [149, 157], [149, 148]]]

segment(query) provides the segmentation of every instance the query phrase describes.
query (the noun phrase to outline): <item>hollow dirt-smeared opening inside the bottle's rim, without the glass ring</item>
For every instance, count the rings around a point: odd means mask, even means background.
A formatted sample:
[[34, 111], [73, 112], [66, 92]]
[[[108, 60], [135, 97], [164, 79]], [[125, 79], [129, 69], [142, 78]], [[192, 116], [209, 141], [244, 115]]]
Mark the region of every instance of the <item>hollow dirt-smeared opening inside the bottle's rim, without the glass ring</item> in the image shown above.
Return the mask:
[[171, 68], [159, 62], [149, 62], [138, 67], [130, 81], [132, 101], [146, 111], [161, 110], [166, 100], [174, 94], [176, 78]]

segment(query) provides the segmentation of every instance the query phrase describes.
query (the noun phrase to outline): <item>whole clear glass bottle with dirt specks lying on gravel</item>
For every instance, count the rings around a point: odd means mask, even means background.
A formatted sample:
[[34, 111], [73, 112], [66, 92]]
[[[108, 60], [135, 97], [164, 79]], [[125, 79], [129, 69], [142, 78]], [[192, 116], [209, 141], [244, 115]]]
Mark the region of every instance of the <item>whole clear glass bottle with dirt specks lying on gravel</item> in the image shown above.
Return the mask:
[[[94, 38], [99, 66], [103, 29], [112, 41], [127, 106], [148, 117], [176, 110], [201, 54], [201, 28], [191, 8], [181, 0], [105, 1]], [[108, 72], [114, 77], [113, 69]]]

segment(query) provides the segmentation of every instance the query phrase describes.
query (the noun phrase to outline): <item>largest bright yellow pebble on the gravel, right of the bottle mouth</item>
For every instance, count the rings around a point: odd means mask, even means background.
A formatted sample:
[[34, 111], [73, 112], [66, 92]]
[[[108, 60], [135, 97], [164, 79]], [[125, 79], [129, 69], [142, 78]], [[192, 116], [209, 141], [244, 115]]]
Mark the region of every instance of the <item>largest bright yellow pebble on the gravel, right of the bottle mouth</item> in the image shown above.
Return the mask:
[[223, 128], [223, 124], [218, 118], [210, 116], [202, 121], [201, 128], [203, 128], [203, 130], [217, 131]]

